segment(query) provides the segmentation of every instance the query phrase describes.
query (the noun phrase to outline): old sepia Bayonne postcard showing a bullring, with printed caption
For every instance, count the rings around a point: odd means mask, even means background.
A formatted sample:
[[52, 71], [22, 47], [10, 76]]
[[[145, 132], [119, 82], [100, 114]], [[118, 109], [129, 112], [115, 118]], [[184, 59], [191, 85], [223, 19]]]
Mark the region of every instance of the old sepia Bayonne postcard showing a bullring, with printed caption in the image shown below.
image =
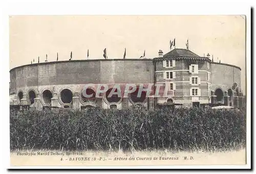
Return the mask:
[[10, 165], [246, 165], [247, 22], [10, 15]]

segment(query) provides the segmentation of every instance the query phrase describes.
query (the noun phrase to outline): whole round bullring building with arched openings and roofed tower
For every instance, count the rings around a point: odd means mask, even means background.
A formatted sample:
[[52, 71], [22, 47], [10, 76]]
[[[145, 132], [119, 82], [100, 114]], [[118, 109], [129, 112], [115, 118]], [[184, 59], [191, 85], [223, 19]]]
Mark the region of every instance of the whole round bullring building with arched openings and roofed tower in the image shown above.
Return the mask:
[[[230, 105], [242, 107], [241, 68], [214, 62], [209, 54], [201, 57], [187, 49], [174, 49], [156, 58], [87, 59], [27, 64], [10, 70], [10, 105], [44, 107], [127, 108], [132, 105], [156, 108], [163, 105], [183, 106]], [[162, 83], [168, 97], [147, 98], [138, 91], [126, 98], [113, 95], [95, 97], [95, 88], [82, 94], [84, 85]], [[111, 90], [111, 89], [110, 89]], [[106, 92], [109, 93], [108, 90]]]

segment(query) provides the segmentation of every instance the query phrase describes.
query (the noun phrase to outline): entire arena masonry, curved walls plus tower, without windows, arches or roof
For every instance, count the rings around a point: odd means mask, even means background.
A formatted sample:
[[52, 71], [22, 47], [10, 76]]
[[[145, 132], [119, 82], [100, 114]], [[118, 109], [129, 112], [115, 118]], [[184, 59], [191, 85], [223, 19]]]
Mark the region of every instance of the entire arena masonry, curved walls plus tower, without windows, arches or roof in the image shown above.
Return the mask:
[[[198, 64], [198, 74], [189, 73], [190, 64]], [[176, 89], [168, 93], [171, 94], [170, 96], [146, 99], [145, 102], [141, 103], [143, 106], [150, 108], [154, 107], [155, 100], [157, 103], [165, 103], [168, 98], [172, 98], [175, 103], [182, 103], [186, 106], [190, 106], [192, 100], [198, 100], [202, 104], [211, 103], [211, 100], [216, 100], [214, 92], [217, 88], [220, 88], [225, 96], [227, 95], [226, 91], [231, 88], [234, 82], [238, 84], [239, 89], [241, 88], [241, 69], [239, 67], [217, 62], [210, 62], [209, 67], [207, 67], [206, 60], [178, 58], [175, 65], [173, 68], [163, 68], [162, 61], [153, 61], [152, 59], [72, 60], [28, 64], [10, 71], [12, 100], [10, 103], [29, 103], [28, 94], [30, 91], [34, 91], [36, 101], [39, 101], [38, 105], [41, 108], [47, 105], [41, 99], [42, 93], [49, 90], [53, 96], [55, 95], [53, 97], [54, 105], [63, 107], [63, 103], [60, 101], [60, 92], [63, 89], [69, 89], [74, 96], [76, 107], [92, 105], [110, 108], [111, 103], [104, 99], [97, 99], [90, 103], [82, 102], [81, 92], [84, 85], [88, 83], [162, 83], [165, 85], [166, 82], [174, 82]], [[165, 71], [175, 72], [175, 79], [163, 79]], [[201, 84], [189, 84], [189, 77], [191, 76], [198, 76]], [[201, 91], [201, 95], [197, 99], [190, 96], [190, 89], [193, 87], [199, 88]], [[23, 93], [23, 100], [18, 100], [17, 94], [19, 92]], [[234, 96], [240, 95], [236, 94], [235, 91], [232, 92]], [[233, 97], [232, 99], [232, 105], [238, 103], [237, 98]], [[222, 103], [225, 103], [225, 101], [223, 100]], [[116, 105], [117, 108], [126, 108], [133, 105], [133, 103], [124, 98]]]

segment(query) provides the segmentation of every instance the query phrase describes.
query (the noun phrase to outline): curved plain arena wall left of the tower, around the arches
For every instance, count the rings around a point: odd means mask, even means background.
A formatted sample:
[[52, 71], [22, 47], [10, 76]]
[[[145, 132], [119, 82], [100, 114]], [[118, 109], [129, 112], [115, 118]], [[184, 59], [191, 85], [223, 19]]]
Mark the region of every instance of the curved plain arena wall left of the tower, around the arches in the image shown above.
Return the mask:
[[[28, 64], [17, 67], [10, 71], [10, 88], [14, 104], [29, 104], [29, 91], [37, 95], [36, 101], [39, 107], [47, 104], [42, 99], [42, 93], [49, 90], [53, 96], [54, 106], [63, 107], [60, 100], [60, 92], [69, 89], [73, 93], [73, 103], [81, 105], [93, 105], [109, 108], [110, 103], [97, 99], [96, 102], [84, 103], [81, 100], [81, 92], [84, 84], [114, 84], [114, 83], [154, 83], [154, 66], [150, 59], [102, 59], [102, 60], [73, 60], [44, 62]], [[17, 94], [23, 93], [23, 101], [18, 99]], [[77, 96], [76, 96], [77, 95]], [[13, 99], [15, 98], [15, 99]], [[15, 101], [14, 101], [15, 100]], [[151, 101], [150, 106], [154, 106]], [[126, 105], [131, 105], [129, 101]], [[145, 103], [144, 103], [145, 104]], [[77, 104], [76, 104], [77, 105]], [[124, 104], [125, 105], [125, 104]], [[147, 105], [147, 104], [145, 104]], [[117, 104], [121, 108], [122, 103]]]

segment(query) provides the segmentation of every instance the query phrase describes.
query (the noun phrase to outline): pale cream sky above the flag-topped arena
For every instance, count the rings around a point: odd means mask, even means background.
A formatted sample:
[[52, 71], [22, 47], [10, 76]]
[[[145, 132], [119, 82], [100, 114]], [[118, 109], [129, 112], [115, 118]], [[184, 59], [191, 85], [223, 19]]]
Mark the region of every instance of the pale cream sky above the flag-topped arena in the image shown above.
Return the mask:
[[[245, 91], [245, 16], [11, 16], [10, 69], [40, 62], [73, 59], [147, 58], [158, 50], [169, 52], [169, 40], [176, 38], [176, 48], [186, 48], [214, 61], [242, 69]], [[218, 60], [218, 62], [219, 62]], [[231, 73], [231, 72], [230, 72]]]

